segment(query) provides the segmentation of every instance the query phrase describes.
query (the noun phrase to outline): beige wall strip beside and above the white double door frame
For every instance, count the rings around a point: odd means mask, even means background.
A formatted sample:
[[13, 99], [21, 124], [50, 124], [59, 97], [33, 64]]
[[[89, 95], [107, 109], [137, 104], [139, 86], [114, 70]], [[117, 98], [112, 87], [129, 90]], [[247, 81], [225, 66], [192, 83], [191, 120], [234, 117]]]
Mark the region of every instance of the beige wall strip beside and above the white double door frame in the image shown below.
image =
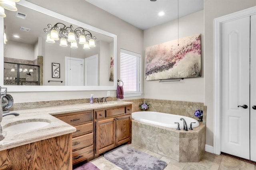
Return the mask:
[[214, 25], [213, 19], [256, 6], [256, 0], [204, 0], [204, 105], [207, 106], [206, 144], [213, 146]]

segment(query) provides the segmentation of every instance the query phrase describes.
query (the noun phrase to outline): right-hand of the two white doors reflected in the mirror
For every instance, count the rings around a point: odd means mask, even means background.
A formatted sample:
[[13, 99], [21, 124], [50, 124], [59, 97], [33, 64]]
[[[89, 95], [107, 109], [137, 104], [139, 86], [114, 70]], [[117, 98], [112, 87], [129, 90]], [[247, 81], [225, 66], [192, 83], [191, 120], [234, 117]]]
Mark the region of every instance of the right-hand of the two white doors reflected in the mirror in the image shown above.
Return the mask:
[[98, 54], [84, 59], [84, 85], [98, 86]]

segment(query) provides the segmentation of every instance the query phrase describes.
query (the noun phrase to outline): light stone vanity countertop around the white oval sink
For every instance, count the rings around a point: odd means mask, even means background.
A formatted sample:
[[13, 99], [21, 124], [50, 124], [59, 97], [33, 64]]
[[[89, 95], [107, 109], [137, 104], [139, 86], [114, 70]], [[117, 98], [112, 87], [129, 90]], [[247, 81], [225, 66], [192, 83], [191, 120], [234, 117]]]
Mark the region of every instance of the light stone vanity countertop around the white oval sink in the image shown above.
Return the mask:
[[[63, 121], [60, 121], [59, 119], [57, 119], [52, 115], [71, 113], [71, 112], [77, 112], [77, 111], [93, 110], [93, 109], [101, 109], [101, 108], [108, 108], [108, 107], [116, 107], [116, 106], [123, 106], [123, 105], [129, 105], [129, 104], [132, 104], [132, 102], [111, 101], [108, 103], [93, 103], [93, 104], [85, 103], [85, 104], [77, 104], [77, 105], [64, 105], [64, 106], [42, 107], [37, 109], [24, 109], [24, 110], [10, 111], [14, 113], [19, 113], [20, 115], [17, 117], [15, 117], [14, 115], [7, 115], [3, 117], [1, 125], [3, 127], [2, 133], [5, 136], [5, 138], [2, 141], [0, 141], [0, 151], [76, 131], [75, 127], [72, 127], [71, 125], [68, 125]], [[15, 121], [26, 120], [26, 119], [47, 119], [51, 123], [45, 127], [35, 129], [35, 130], [29, 130], [29, 131], [17, 132], [17, 131], [4, 130], [4, 127], [7, 124]]]

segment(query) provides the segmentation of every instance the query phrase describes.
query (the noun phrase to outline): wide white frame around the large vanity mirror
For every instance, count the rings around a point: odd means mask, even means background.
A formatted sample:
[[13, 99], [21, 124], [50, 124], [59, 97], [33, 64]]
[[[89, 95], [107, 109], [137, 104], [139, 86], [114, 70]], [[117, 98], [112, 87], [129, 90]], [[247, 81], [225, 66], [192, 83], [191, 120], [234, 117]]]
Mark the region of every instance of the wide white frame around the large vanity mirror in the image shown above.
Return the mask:
[[[74, 20], [72, 18], [68, 18], [63, 16], [62, 14], [58, 14], [36, 4], [32, 4], [31, 2], [27, 2], [25, 0], [20, 0], [20, 2], [16, 2], [17, 4], [24, 6], [26, 8], [30, 8], [37, 12], [41, 12], [42, 14], [46, 14], [48, 16], [52, 16], [58, 18], [59, 20], [63, 20], [69, 22], [70, 24], [75, 24], [77, 26], [81, 26], [83, 28], [92, 30], [94, 32], [98, 32], [100, 34], [104, 34], [106, 36], [114, 38], [114, 86], [13, 86], [13, 85], [4, 85], [4, 50], [0, 50], [0, 86], [7, 87], [9, 92], [25, 92], [25, 91], [99, 91], [99, 90], [116, 90], [117, 86], [117, 36], [106, 32], [104, 30], [100, 30], [78, 20]], [[0, 40], [4, 40], [4, 18], [0, 18]], [[4, 41], [0, 41], [0, 49], [4, 49]]]

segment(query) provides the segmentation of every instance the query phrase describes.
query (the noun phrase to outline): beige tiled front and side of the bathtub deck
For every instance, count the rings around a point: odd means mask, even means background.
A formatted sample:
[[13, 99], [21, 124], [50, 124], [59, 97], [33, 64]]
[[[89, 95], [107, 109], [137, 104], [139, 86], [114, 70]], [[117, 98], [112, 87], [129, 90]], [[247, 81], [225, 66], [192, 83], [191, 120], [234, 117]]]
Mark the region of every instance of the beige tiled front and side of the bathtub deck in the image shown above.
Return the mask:
[[206, 126], [184, 131], [132, 120], [132, 144], [178, 162], [199, 162], [205, 151]]

